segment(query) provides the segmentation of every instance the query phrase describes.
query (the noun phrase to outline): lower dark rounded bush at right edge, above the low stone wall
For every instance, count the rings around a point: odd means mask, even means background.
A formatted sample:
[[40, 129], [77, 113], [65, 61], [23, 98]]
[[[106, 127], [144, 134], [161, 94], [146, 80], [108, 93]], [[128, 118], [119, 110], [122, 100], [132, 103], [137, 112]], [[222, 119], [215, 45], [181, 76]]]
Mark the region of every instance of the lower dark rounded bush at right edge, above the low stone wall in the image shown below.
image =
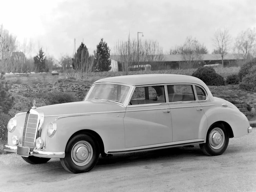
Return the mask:
[[248, 74], [239, 83], [240, 89], [256, 92], [256, 65], [248, 70]]

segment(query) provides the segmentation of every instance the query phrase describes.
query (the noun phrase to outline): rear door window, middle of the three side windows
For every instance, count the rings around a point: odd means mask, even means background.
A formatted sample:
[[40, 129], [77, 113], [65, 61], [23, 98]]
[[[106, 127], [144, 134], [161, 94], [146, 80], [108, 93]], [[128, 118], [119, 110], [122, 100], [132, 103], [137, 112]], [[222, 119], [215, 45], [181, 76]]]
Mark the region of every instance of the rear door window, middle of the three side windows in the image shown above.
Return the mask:
[[192, 85], [168, 85], [169, 102], [195, 101]]

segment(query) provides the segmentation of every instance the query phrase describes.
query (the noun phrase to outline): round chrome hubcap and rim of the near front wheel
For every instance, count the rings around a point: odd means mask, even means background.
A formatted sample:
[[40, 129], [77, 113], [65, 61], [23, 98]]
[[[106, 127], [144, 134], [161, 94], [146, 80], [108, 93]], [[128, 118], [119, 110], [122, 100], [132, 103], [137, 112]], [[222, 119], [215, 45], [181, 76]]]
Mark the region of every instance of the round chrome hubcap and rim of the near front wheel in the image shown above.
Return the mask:
[[79, 141], [72, 147], [71, 159], [78, 166], [87, 165], [93, 155], [93, 149], [87, 141]]

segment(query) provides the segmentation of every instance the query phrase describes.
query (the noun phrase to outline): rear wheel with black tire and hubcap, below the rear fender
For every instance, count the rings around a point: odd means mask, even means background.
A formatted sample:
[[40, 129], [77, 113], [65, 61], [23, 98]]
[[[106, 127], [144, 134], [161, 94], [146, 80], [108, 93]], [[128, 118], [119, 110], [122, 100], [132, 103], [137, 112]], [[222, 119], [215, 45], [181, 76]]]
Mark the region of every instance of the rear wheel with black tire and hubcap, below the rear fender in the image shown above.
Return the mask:
[[[214, 134], [216, 134], [216, 136], [214, 136]], [[214, 138], [214, 139], [211, 139], [211, 138]], [[220, 143], [217, 144], [218, 142]], [[199, 146], [202, 152], [204, 152], [204, 154], [209, 156], [215, 156], [215, 155], [221, 155], [222, 153], [224, 153], [228, 147], [228, 143], [229, 143], [229, 132], [227, 128], [223, 124], [214, 123], [211, 125], [211, 127], [207, 132], [206, 143], [199, 144]]]

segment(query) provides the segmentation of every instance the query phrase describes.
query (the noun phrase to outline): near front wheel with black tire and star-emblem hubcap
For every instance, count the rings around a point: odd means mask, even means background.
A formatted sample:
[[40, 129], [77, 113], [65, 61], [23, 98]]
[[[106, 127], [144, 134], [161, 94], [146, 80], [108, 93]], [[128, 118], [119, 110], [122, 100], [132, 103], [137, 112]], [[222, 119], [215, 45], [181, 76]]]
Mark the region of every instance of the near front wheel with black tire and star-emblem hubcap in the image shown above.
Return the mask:
[[99, 145], [95, 138], [89, 133], [79, 134], [68, 141], [65, 157], [60, 159], [60, 163], [73, 174], [89, 172], [97, 164], [99, 154]]

